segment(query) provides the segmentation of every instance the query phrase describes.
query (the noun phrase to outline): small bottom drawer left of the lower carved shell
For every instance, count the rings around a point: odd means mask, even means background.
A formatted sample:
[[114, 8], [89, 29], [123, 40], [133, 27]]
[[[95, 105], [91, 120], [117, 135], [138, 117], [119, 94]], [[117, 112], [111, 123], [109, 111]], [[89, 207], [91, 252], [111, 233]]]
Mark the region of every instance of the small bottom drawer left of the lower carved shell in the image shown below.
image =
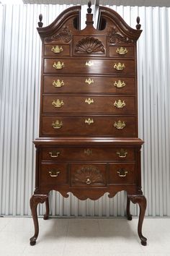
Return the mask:
[[40, 184], [68, 184], [68, 170], [66, 163], [41, 163]]

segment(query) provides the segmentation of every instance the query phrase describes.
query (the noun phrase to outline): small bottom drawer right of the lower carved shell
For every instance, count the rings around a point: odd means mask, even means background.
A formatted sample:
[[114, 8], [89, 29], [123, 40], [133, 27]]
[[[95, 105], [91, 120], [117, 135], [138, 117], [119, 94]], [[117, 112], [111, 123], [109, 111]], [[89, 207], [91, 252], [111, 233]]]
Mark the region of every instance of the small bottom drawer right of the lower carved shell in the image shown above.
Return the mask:
[[136, 174], [135, 163], [110, 164], [109, 184], [135, 184]]

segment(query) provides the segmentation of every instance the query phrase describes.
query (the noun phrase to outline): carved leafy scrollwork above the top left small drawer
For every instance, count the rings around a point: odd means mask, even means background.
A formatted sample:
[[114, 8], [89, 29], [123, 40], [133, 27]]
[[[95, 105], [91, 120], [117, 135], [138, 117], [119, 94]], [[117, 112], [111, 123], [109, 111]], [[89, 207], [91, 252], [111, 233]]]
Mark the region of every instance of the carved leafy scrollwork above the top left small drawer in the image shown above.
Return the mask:
[[61, 31], [57, 35], [53, 35], [49, 38], [46, 38], [45, 41], [53, 42], [53, 41], [57, 41], [57, 40], [63, 40], [64, 43], [68, 43], [71, 41], [71, 38], [72, 38], [72, 35], [71, 35], [70, 30], [68, 30], [68, 27], [64, 27], [63, 31]]

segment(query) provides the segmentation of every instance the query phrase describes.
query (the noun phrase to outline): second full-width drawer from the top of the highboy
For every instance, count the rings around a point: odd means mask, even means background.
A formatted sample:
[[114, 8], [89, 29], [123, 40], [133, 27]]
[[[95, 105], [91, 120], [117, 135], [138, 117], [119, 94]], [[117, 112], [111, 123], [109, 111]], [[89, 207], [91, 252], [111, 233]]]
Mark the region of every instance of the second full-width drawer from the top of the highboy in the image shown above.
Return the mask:
[[44, 93], [135, 93], [134, 77], [44, 76]]

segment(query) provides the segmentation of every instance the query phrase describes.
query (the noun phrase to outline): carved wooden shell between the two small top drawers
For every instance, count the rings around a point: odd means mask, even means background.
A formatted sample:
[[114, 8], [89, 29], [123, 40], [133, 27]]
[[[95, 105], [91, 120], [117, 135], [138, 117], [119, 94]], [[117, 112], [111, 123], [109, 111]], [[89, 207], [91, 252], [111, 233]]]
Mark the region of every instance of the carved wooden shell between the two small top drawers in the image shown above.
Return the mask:
[[104, 45], [97, 38], [82, 38], [76, 45], [75, 52], [84, 52], [87, 54], [95, 53], [101, 51], [103, 54], [105, 52]]

